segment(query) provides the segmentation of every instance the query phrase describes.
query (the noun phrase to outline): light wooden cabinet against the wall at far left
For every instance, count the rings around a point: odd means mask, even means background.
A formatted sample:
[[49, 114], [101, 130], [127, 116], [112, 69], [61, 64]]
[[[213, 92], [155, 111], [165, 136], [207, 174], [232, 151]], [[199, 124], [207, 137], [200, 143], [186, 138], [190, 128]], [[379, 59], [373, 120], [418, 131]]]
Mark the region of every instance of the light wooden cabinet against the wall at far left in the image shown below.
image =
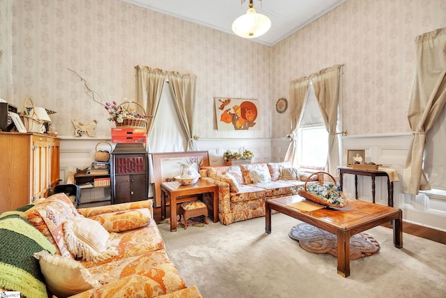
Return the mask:
[[59, 184], [60, 139], [0, 133], [0, 213], [45, 198]]

